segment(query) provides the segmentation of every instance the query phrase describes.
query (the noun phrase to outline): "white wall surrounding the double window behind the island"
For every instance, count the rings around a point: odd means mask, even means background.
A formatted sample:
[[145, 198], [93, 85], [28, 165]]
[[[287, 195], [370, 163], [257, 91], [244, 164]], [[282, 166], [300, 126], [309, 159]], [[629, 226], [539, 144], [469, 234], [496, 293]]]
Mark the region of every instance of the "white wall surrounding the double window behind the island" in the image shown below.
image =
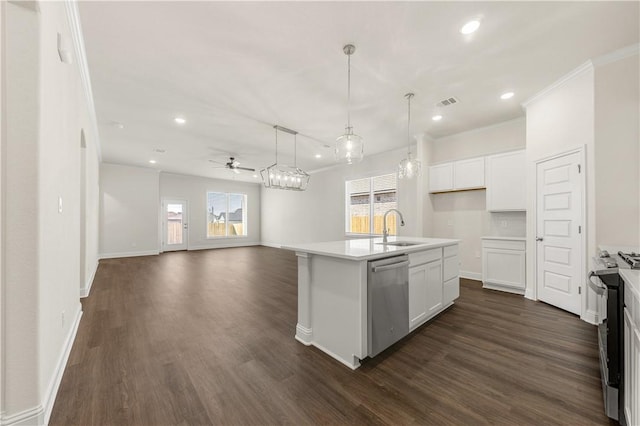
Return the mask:
[[[365, 141], [366, 142], [366, 141]], [[415, 151], [414, 151], [415, 152]], [[266, 245], [333, 241], [345, 238], [345, 181], [395, 173], [406, 148], [365, 156], [311, 175], [304, 192], [262, 188], [261, 229]], [[406, 225], [399, 235], [420, 235], [421, 199], [416, 179], [398, 181], [398, 209]]]

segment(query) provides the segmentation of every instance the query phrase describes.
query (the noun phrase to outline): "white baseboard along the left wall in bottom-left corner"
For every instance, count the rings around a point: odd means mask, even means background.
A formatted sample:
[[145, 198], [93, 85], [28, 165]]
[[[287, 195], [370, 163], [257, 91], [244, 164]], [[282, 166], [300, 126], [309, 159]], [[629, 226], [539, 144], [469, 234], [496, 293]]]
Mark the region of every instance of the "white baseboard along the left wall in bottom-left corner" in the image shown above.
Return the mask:
[[80, 318], [82, 318], [82, 305], [78, 304], [78, 310], [74, 318], [73, 324], [69, 329], [69, 334], [65, 339], [62, 350], [56, 363], [53, 376], [47, 386], [47, 390], [44, 394], [44, 399], [41, 404], [33, 408], [21, 411], [19, 413], [12, 414], [10, 416], [2, 415], [0, 418], [1, 426], [34, 426], [34, 425], [46, 425], [49, 423], [51, 417], [51, 411], [53, 410], [53, 404], [56, 401], [56, 395], [60, 388], [60, 382], [62, 382], [62, 375], [64, 374], [67, 361], [69, 360], [69, 354], [71, 353], [71, 347], [76, 339], [78, 332], [78, 326], [80, 325]]

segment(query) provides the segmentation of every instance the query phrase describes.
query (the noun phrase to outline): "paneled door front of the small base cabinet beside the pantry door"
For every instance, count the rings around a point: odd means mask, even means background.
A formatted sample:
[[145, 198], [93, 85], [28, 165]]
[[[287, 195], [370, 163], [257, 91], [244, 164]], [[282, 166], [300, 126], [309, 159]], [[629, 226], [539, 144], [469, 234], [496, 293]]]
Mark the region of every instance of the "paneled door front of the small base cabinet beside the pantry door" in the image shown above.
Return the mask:
[[525, 252], [498, 248], [482, 249], [482, 281], [524, 290]]

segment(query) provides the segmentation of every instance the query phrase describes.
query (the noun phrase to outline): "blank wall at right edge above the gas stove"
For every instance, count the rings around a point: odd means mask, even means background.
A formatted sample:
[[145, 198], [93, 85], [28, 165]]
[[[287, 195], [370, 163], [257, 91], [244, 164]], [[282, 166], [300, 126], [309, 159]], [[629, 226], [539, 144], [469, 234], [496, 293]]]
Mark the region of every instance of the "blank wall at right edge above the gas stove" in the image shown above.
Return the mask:
[[640, 248], [638, 54], [596, 66], [596, 244]]

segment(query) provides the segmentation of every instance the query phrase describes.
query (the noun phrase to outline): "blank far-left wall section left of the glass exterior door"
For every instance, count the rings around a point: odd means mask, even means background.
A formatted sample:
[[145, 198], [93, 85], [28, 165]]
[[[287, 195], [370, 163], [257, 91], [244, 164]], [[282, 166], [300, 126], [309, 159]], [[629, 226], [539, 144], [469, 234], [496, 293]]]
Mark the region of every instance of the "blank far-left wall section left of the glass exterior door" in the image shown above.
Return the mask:
[[102, 163], [100, 257], [158, 254], [159, 209], [158, 170]]

